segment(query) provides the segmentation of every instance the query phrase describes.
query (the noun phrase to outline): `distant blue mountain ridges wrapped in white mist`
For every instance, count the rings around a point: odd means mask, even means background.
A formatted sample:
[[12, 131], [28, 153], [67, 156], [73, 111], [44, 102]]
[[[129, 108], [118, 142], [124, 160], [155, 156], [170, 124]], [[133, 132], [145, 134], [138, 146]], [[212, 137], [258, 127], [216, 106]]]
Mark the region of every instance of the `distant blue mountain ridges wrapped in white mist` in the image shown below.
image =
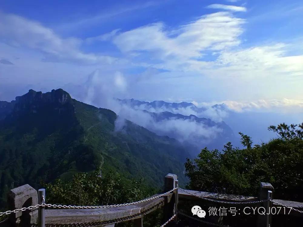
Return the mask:
[[[237, 141], [233, 130], [224, 121], [215, 122], [210, 118], [197, 117], [195, 114], [203, 115], [209, 110], [196, 107], [192, 103], [145, 102], [135, 99], [118, 101], [136, 111], [132, 114], [122, 112], [126, 118], [159, 135], [179, 140], [194, 156], [205, 146], [209, 149], [221, 149], [225, 143]], [[210, 107], [210, 110], [218, 114], [224, 108], [225, 105], [221, 104]], [[145, 114], [140, 114], [139, 111]]]

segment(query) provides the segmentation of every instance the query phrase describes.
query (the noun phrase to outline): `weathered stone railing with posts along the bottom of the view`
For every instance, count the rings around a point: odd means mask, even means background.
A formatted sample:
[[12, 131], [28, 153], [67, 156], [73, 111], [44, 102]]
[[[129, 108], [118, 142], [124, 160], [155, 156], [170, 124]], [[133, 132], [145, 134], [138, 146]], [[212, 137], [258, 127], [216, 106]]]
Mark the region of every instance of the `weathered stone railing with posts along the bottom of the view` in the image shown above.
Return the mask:
[[[144, 199], [138, 202], [132, 202], [128, 204], [109, 205], [107, 207], [97, 207], [91, 209], [91, 207], [84, 207], [85, 209], [75, 209], [72, 206], [63, 205], [51, 205], [47, 204], [47, 201], [38, 201], [37, 191], [28, 184], [14, 188], [8, 193], [7, 206], [10, 210], [26, 208], [29, 206], [35, 206], [37, 204], [43, 204], [45, 209], [43, 213], [44, 223], [46, 227], [84, 227], [84, 226], [106, 226], [114, 227], [115, 223], [132, 220], [134, 226], [142, 227], [142, 217], [160, 207], [164, 207], [164, 222], [168, 220], [177, 220], [178, 202], [182, 204], [184, 201], [190, 200], [204, 200], [205, 205], [214, 203], [227, 203], [235, 206], [255, 206], [255, 207], [267, 207], [278, 206], [276, 203], [283, 204], [287, 207], [287, 210], [291, 210], [290, 215], [302, 216], [303, 215], [303, 203], [284, 201], [278, 199], [268, 199], [268, 195], [272, 195], [274, 191], [273, 186], [270, 183], [260, 183], [259, 197], [251, 196], [235, 196], [225, 195], [211, 192], [199, 192], [192, 190], [184, 190], [178, 187], [178, 180], [175, 174], [167, 174], [165, 176], [165, 192], [161, 195], [154, 195], [150, 198]], [[47, 192], [46, 192], [47, 193]], [[46, 195], [47, 196], [47, 195]], [[291, 207], [291, 208], [290, 208]], [[58, 209], [59, 208], [59, 209]], [[65, 208], [65, 209], [60, 209]], [[69, 209], [72, 208], [72, 209]], [[79, 207], [77, 207], [79, 208]], [[82, 208], [82, 207], [80, 207]], [[294, 210], [292, 210], [295, 208]], [[43, 209], [44, 210], [44, 209]], [[41, 214], [41, 213], [40, 213]], [[180, 215], [181, 216], [181, 215]], [[181, 218], [181, 217], [179, 217]], [[218, 224], [219, 219], [212, 220]], [[258, 226], [268, 227], [271, 224], [271, 216], [259, 215]], [[164, 224], [165, 225], [165, 224]], [[162, 225], [162, 226], [164, 226]], [[31, 226], [36, 227], [38, 225], [38, 208], [28, 209], [11, 213], [5, 222], [0, 223], [0, 227], [10, 226]]]

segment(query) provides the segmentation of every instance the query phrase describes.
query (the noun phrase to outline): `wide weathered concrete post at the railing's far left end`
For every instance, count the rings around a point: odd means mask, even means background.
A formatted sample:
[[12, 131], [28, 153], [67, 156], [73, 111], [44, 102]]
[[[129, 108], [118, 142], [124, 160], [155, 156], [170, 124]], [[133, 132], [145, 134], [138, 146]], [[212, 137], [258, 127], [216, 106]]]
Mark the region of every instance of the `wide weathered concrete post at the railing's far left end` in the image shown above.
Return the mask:
[[[7, 195], [7, 205], [9, 210], [21, 209], [23, 207], [35, 206], [38, 204], [37, 191], [25, 184], [18, 188], [11, 189]], [[9, 222], [14, 226], [30, 226], [36, 224], [38, 209], [26, 210], [23, 212], [12, 213]]]

